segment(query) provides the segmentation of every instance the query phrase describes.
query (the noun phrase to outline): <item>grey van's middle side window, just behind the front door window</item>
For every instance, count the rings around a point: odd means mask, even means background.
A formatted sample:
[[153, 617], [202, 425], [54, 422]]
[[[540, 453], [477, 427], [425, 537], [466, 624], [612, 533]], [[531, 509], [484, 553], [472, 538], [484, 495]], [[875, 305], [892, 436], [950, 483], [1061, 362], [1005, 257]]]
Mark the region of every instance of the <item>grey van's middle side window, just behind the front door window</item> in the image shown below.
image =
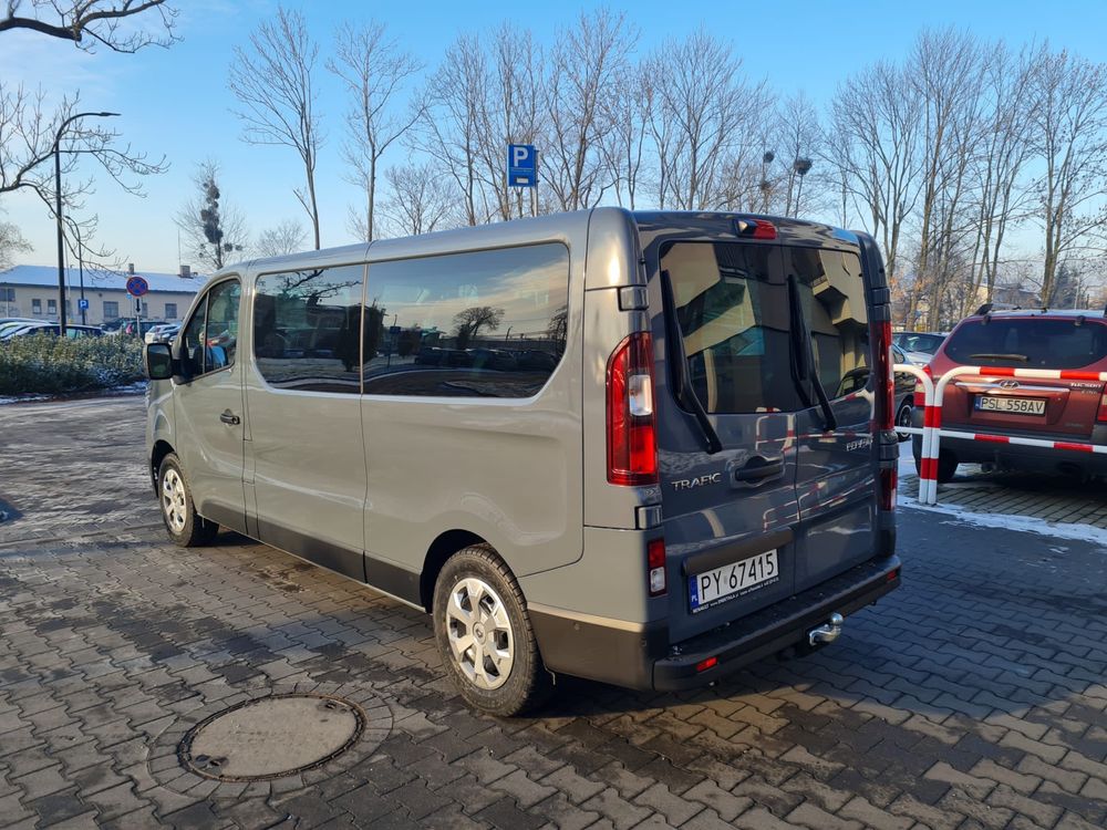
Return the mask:
[[254, 353], [271, 385], [358, 394], [364, 266], [269, 273], [254, 300]]

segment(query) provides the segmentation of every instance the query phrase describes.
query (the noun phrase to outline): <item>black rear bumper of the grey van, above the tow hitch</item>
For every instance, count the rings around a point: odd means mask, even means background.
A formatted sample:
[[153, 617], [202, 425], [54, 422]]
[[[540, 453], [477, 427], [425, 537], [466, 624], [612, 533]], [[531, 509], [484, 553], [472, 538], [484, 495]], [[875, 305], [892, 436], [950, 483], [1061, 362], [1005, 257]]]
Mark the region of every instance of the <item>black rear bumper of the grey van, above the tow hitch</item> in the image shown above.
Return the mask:
[[[531, 605], [539, 650], [550, 671], [630, 688], [671, 692], [720, 677], [806, 642], [807, 633], [837, 612], [848, 616], [900, 584], [900, 560], [890, 556], [856, 566], [815, 588], [670, 650], [663, 624], [629, 624]], [[846, 631], [849, 630], [847, 620]], [[696, 666], [717, 661], [706, 671]]]

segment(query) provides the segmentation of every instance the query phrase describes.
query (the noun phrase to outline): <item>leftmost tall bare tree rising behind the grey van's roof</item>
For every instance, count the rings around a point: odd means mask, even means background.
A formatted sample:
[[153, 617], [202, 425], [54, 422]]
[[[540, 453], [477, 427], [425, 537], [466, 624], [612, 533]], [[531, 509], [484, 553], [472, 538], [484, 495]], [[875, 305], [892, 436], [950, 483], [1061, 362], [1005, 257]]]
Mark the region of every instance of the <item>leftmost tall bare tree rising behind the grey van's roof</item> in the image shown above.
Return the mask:
[[308, 33], [303, 15], [277, 8], [276, 20], [262, 22], [250, 35], [250, 49], [235, 48], [230, 91], [242, 108], [242, 137], [250, 144], [292, 147], [303, 162], [304, 189], [294, 190], [311, 218], [319, 250], [319, 203], [315, 163], [323, 136], [314, 111], [315, 60], [319, 46]]

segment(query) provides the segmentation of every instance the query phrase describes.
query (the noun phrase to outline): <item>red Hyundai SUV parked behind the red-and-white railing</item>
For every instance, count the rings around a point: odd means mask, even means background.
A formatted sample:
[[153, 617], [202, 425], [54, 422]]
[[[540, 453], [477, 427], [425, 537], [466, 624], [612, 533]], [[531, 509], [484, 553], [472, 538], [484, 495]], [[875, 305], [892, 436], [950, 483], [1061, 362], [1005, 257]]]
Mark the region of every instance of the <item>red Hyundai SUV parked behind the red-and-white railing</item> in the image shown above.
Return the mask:
[[[989, 311], [968, 317], [946, 338], [928, 371], [935, 383], [954, 366], [980, 366], [945, 387], [942, 428], [966, 433], [1107, 445], [1107, 394], [1101, 381], [1031, 380], [989, 374], [990, 366], [1107, 372], [1103, 311]], [[921, 387], [917, 391], [921, 400]], [[922, 425], [922, 408], [914, 424]], [[921, 438], [913, 440], [915, 467]], [[968, 438], [941, 439], [938, 480], [958, 465], [1107, 476], [1107, 455]]]

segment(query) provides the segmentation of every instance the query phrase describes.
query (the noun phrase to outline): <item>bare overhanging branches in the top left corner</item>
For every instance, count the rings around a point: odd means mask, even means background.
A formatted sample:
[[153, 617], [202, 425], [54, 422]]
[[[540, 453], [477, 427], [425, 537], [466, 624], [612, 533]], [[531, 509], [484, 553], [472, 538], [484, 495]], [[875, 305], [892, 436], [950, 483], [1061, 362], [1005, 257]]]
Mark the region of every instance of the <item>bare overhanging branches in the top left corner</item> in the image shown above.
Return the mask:
[[[177, 10], [166, 0], [7, 0], [0, 32], [23, 29], [92, 51], [102, 44], [116, 52], [137, 52], [143, 46], [168, 46]], [[25, 10], [25, 13], [21, 13]], [[147, 13], [148, 12], [148, 13]], [[141, 19], [139, 19], [141, 18]], [[146, 25], [146, 24], [149, 25]]]

